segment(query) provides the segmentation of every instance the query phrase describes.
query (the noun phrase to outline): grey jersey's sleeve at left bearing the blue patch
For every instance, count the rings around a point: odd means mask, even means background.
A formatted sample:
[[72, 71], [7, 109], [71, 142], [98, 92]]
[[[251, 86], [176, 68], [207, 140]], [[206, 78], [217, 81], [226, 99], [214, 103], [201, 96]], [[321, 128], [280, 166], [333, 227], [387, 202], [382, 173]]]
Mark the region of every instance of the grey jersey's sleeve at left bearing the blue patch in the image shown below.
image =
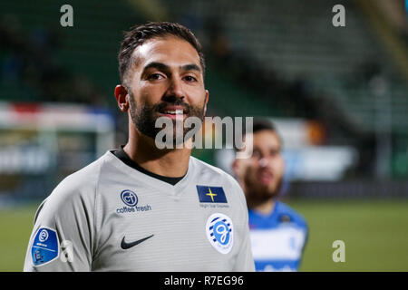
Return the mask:
[[92, 189], [64, 180], [37, 209], [24, 272], [91, 271]]

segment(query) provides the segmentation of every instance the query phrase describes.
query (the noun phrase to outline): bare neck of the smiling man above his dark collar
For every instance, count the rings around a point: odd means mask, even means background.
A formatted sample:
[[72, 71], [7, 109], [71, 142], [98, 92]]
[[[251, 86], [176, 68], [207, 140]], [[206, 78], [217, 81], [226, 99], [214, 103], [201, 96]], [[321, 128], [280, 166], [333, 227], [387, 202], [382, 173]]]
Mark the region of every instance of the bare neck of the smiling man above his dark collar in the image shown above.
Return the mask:
[[186, 146], [182, 149], [160, 150], [154, 140], [137, 130], [130, 130], [128, 143], [123, 150], [141, 168], [161, 176], [179, 178], [189, 168], [191, 150]]

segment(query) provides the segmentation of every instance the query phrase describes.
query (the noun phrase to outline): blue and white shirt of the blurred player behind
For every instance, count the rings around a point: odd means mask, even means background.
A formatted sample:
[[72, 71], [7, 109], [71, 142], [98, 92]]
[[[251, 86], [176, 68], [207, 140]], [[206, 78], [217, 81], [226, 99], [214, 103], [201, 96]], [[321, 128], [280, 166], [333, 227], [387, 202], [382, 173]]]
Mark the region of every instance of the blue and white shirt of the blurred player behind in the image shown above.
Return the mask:
[[257, 271], [297, 271], [307, 240], [305, 218], [277, 201], [270, 215], [249, 209], [249, 230]]

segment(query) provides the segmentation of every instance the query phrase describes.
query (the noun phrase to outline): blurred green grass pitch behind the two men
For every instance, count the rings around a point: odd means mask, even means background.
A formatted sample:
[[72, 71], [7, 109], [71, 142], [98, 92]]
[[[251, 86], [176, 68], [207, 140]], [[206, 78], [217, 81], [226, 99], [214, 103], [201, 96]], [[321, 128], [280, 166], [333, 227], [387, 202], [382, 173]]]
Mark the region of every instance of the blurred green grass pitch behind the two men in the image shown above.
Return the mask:
[[[288, 200], [307, 220], [301, 271], [408, 271], [408, 200]], [[0, 208], [0, 271], [22, 271], [38, 204]], [[335, 263], [335, 240], [345, 262]]]

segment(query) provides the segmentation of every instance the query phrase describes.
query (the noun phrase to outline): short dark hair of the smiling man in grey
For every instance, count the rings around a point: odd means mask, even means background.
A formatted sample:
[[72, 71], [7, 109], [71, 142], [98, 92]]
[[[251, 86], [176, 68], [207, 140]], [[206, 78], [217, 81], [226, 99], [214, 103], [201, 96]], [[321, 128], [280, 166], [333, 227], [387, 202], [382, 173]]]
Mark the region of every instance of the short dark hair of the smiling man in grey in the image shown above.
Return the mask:
[[202, 73], [204, 74], [205, 62], [202, 47], [199, 40], [189, 28], [181, 24], [170, 22], [151, 22], [148, 24], [136, 25], [131, 28], [131, 31], [125, 32], [124, 34], [124, 39], [121, 42], [121, 49], [118, 55], [119, 74], [121, 76], [122, 84], [125, 84], [126, 73], [131, 67], [131, 55], [134, 50], [151, 38], [165, 36], [176, 36], [190, 43], [197, 53], [199, 53], [199, 63], [201, 65]]

